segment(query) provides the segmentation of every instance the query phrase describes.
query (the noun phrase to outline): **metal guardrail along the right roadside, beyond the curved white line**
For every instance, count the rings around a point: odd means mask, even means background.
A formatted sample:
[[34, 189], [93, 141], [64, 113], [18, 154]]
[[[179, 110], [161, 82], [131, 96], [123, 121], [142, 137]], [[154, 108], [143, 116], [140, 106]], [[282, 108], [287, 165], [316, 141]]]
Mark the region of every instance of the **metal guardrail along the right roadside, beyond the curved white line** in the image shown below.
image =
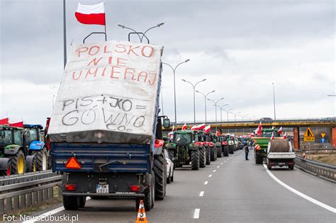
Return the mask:
[[334, 165], [324, 164], [310, 159], [303, 159], [300, 156], [296, 156], [295, 165], [305, 171], [314, 173], [316, 176], [320, 176], [330, 180], [332, 183], [336, 183], [336, 166]]

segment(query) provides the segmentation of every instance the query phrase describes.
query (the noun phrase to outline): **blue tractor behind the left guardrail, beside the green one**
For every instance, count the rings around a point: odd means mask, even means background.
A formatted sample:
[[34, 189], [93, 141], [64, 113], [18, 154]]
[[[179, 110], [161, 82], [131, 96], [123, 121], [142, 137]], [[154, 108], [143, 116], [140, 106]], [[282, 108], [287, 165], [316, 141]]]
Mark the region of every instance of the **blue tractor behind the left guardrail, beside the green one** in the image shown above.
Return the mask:
[[[32, 166], [36, 171], [46, 171], [48, 168], [47, 147], [45, 145], [44, 132], [42, 125], [23, 125], [25, 147], [28, 151], [26, 158], [27, 168]], [[35, 164], [35, 165], [29, 165]], [[35, 170], [27, 170], [35, 171]]]

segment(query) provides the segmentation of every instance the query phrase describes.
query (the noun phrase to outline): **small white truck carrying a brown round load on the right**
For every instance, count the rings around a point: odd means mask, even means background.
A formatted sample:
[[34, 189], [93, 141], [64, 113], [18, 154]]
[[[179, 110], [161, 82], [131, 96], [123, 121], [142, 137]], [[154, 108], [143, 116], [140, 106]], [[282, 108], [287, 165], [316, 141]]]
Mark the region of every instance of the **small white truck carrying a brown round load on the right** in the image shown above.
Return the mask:
[[296, 154], [287, 139], [272, 139], [267, 146], [267, 168], [288, 166], [294, 169]]

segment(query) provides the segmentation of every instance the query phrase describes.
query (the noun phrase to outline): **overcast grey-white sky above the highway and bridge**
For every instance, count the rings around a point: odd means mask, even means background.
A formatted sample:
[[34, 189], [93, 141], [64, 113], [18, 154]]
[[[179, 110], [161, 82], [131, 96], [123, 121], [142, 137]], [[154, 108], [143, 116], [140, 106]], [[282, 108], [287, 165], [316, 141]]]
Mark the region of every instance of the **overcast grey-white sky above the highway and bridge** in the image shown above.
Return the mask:
[[[0, 115], [45, 125], [63, 71], [62, 0], [0, 0]], [[66, 1], [67, 50], [101, 25], [74, 17], [79, 1]], [[98, 4], [101, 1], [80, 1]], [[177, 69], [177, 121], [194, 120], [191, 82], [215, 90], [209, 98], [255, 118], [334, 117], [335, 1], [105, 1], [108, 40], [127, 40], [128, 31], [150, 30], [163, 45], [163, 61]], [[101, 41], [101, 36], [89, 41]], [[135, 41], [136, 39], [134, 39]], [[164, 115], [174, 121], [172, 70], [164, 65]], [[208, 120], [215, 107], [207, 103]], [[230, 114], [230, 119], [234, 116]], [[241, 117], [237, 117], [241, 119]], [[226, 113], [223, 111], [223, 120]], [[245, 118], [246, 119], [246, 118]], [[253, 118], [254, 119], [254, 118]], [[204, 98], [196, 93], [196, 120], [204, 120]], [[220, 112], [218, 110], [218, 120]]]

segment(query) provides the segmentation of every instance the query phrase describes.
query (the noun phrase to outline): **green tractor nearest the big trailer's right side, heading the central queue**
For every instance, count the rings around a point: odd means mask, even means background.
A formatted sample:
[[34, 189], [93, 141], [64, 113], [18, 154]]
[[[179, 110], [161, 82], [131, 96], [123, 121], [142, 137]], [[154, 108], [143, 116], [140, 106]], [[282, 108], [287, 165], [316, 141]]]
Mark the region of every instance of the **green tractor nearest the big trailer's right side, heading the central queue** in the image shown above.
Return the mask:
[[206, 150], [200, 134], [193, 130], [179, 130], [174, 132], [167, 149], [174, 167], [181, 167], [191, 163], [192, 170], [206, 167]]

